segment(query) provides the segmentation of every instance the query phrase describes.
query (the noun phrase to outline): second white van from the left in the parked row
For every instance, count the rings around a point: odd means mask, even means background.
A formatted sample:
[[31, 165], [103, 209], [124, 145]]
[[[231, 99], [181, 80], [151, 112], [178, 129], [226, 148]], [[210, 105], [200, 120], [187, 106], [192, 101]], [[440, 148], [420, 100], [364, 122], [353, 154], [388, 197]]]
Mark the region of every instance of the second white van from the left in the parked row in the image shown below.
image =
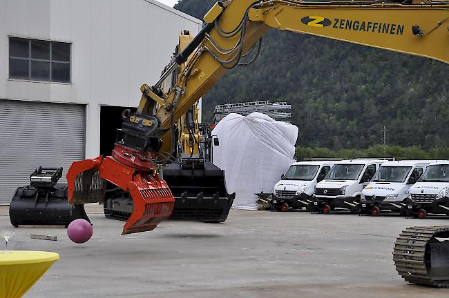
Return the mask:
[[334, 208], [359, 213], [360, 198], [383, 159], [350, 159], [337, 161], [325, 179], [316, 184], [314, 210], [329, 214]]

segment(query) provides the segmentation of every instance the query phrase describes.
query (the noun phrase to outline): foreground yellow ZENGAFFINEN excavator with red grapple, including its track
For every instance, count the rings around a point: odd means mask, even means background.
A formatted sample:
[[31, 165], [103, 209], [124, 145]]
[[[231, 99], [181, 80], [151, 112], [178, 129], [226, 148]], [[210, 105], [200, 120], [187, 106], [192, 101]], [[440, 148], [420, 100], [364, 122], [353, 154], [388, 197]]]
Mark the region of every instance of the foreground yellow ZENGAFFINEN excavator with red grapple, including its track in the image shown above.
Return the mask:
[[[175, 123], [227, 70], [251, 65], [270, 28], [449, 63], [447, 1], [226, 0], [204, 23], [188, 43], [190, 34], [183, 32], [160, 79], [142, 85], [137, 111], [122, 115], [112, 155], [77, 161], [68, 171], [70, 204], [101, 203], [106, 181], [131, 195], [133, 212], [122, 234], [153, 230], [171, 215], [175, 200], [160, 172], [177, 160]], [[449, 227], [403, 231], [394, 247], [399, 274], [415, 284], [448, 287], [448, 237]]]

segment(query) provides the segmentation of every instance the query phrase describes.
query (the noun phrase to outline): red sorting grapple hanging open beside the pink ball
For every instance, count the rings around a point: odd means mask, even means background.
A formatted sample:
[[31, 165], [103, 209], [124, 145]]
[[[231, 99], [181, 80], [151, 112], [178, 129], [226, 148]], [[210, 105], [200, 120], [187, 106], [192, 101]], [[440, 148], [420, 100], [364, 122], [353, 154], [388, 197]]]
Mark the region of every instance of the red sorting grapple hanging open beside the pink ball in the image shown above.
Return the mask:
[[128, 191], [133, 198], [133, 213], [122, 235], [153, 230], [170, 217], [175, 199], [169, 187], [154, 170], [140, 171], [114, 157], [75, 161], [67, 172], [68, 203], [102, 202], [106, 181]]

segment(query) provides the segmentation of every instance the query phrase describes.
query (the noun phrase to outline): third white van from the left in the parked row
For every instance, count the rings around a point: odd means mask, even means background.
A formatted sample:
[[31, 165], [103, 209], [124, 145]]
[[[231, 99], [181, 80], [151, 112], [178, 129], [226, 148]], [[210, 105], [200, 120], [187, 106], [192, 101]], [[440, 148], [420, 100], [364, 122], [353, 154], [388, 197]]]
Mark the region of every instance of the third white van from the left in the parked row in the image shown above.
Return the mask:
[[386, 161], [363, 189], [361, 209], [372, 216], [382, 210], [403, 212], [408, 191], [423, 175], [430, 161]]

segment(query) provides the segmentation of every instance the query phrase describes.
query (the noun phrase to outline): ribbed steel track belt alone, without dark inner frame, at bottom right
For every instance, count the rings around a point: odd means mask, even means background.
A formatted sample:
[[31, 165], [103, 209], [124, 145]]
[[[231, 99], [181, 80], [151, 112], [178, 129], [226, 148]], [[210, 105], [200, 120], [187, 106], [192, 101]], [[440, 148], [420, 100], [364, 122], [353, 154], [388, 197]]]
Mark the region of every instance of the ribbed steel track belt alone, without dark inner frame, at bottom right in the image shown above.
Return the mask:
[[449, 288], [448, 279], [435, 280], [426, 268], [426, 244], [436, 233], [449, 231], [449, 226], [416, 226], [403, 230], [394, 244], [396, 270], [412, 284]]

